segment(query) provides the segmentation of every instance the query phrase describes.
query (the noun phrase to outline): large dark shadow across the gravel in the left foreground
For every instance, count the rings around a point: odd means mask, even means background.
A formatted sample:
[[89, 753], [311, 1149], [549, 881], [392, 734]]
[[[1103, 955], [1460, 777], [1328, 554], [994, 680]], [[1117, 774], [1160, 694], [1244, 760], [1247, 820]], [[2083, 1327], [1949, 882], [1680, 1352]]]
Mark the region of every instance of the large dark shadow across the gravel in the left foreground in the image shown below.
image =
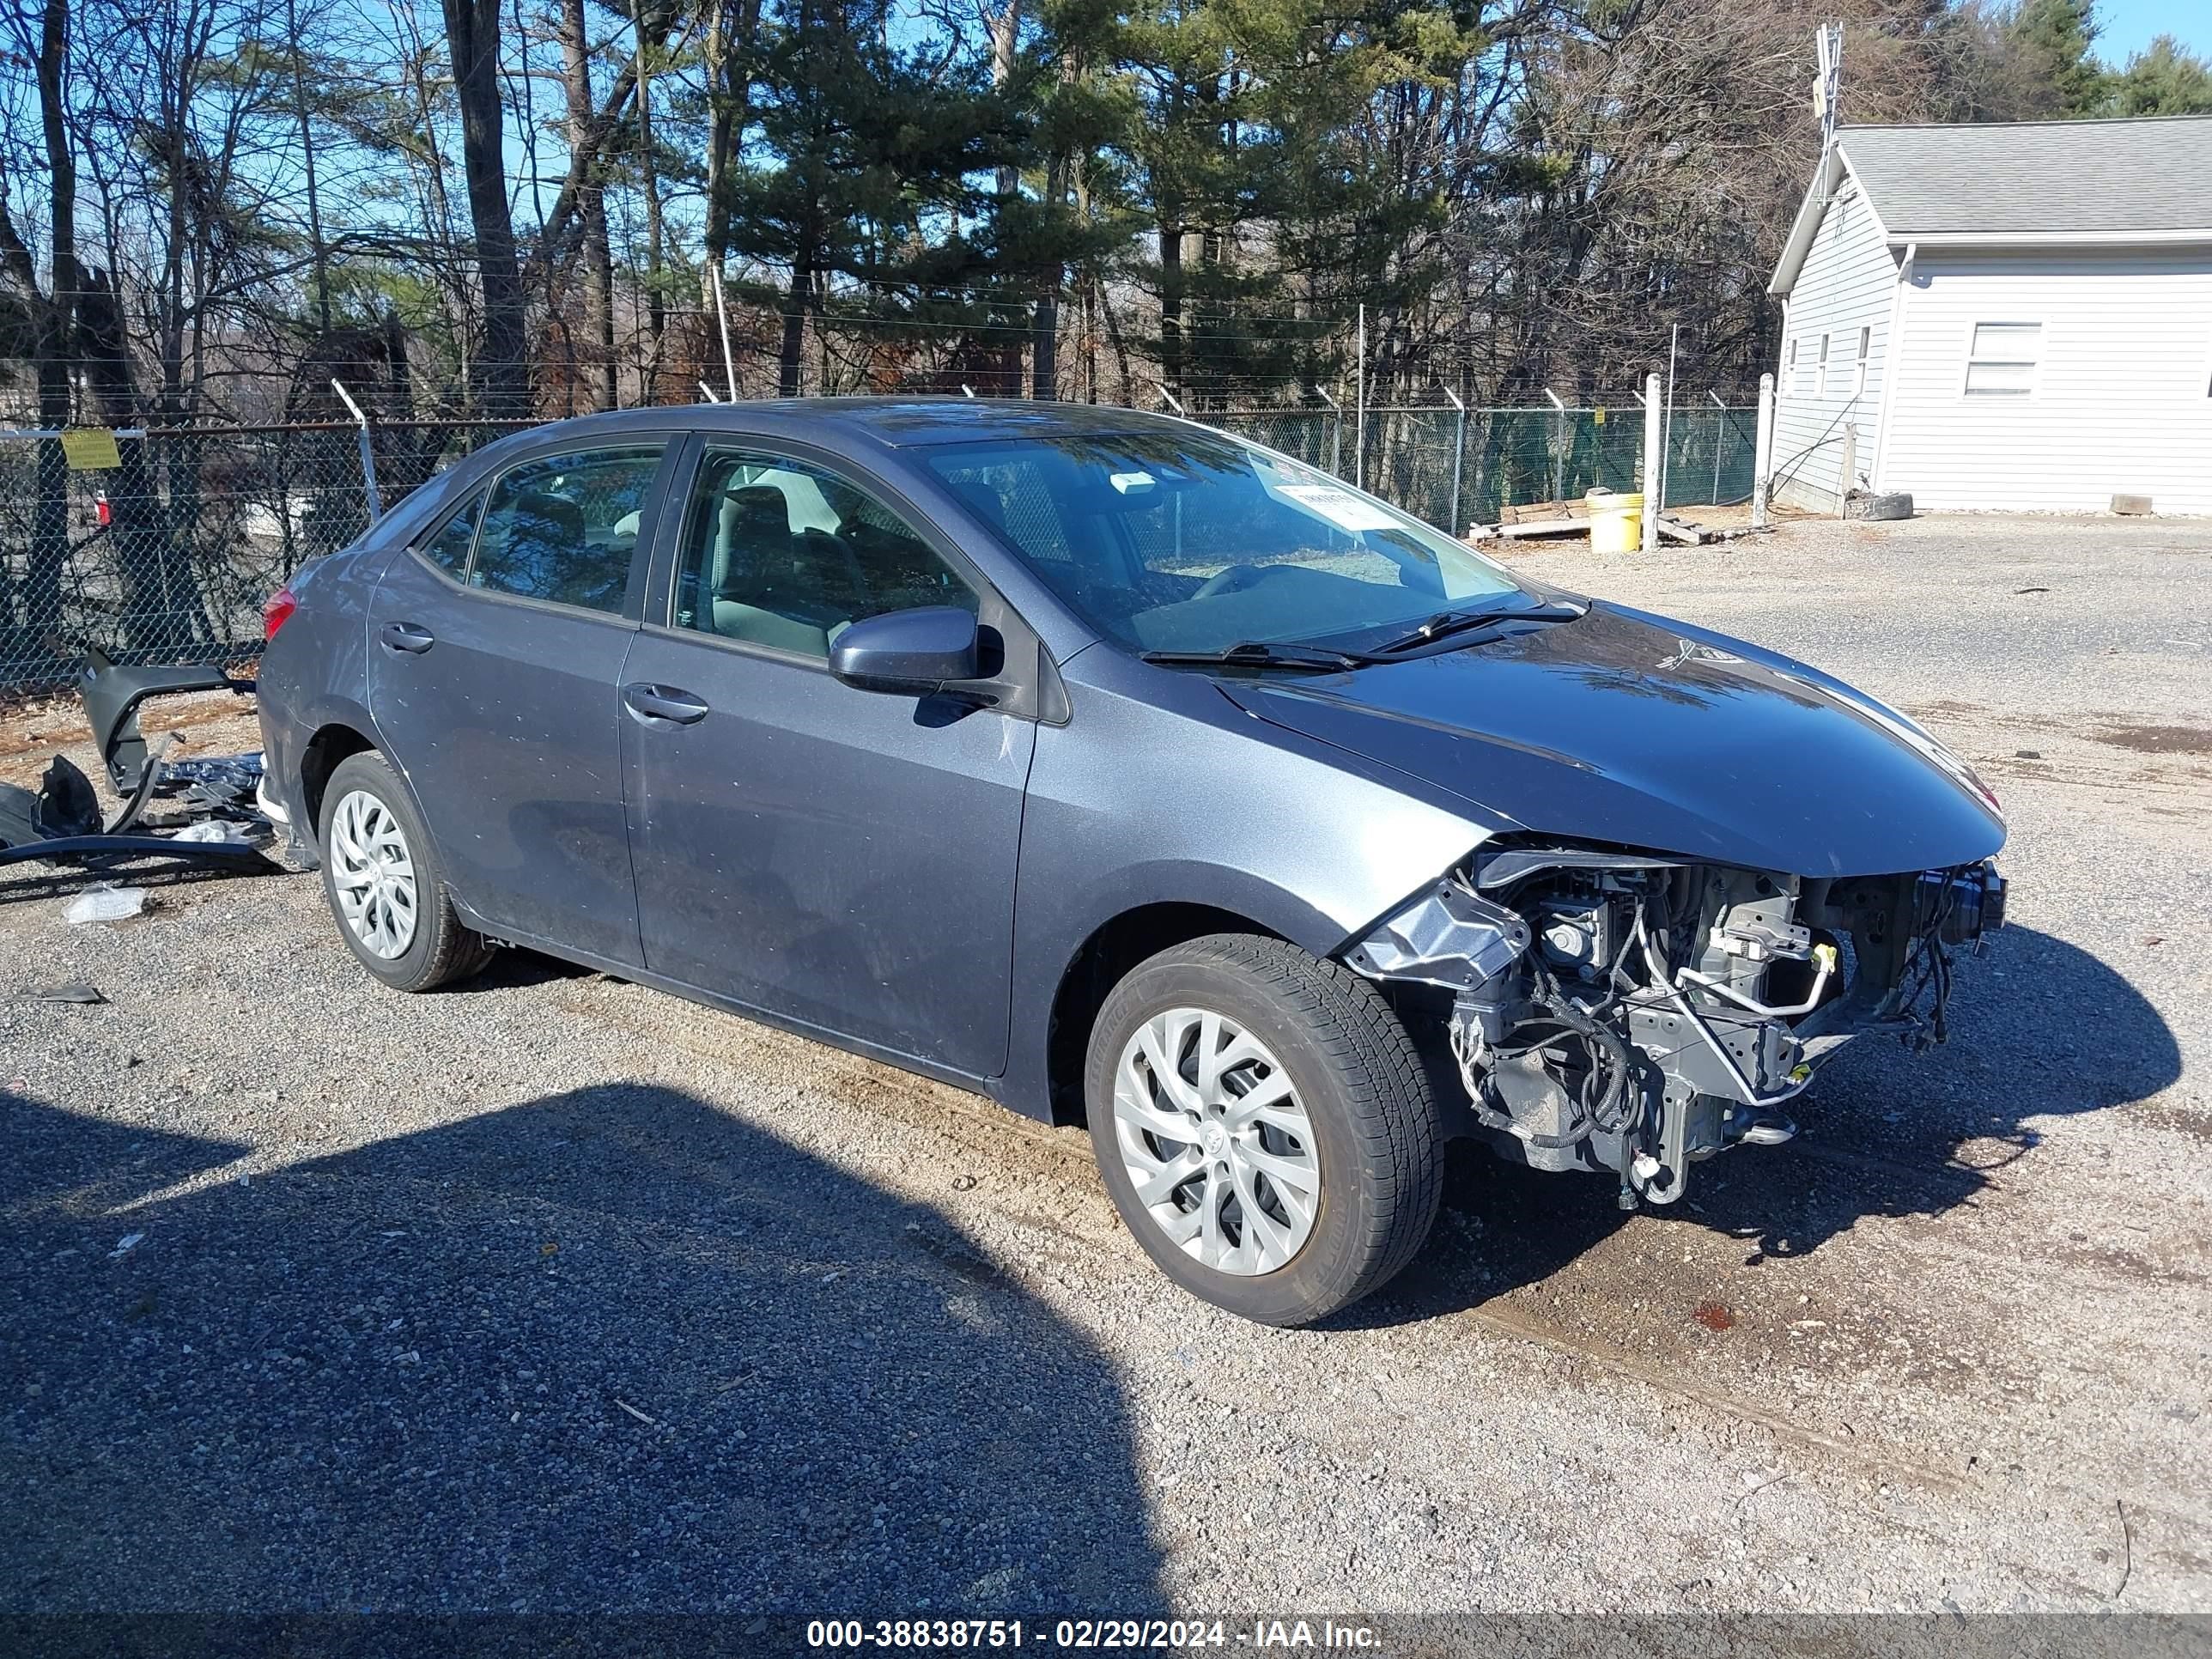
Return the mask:
[[246, 1148], [9, 1093], [0, 1144], [4, 1610], [1161, 1604], [1088, 1338], [688, 1095], [179, 1197]]

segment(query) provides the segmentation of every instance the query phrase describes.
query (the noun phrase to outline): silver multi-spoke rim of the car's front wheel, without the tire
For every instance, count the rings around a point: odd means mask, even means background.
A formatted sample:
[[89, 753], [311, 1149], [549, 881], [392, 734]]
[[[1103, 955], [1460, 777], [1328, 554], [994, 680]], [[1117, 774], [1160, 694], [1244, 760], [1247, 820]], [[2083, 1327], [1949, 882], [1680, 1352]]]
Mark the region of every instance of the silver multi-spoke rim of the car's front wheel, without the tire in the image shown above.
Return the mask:
[[1283, 1064], [1210, 1009], [1146, 1020], [1115, 1068], [1115, 1146], [1152, 1223], [1206, 1267], [1285, 1267], [1321, 1208], [1314, 1126]]

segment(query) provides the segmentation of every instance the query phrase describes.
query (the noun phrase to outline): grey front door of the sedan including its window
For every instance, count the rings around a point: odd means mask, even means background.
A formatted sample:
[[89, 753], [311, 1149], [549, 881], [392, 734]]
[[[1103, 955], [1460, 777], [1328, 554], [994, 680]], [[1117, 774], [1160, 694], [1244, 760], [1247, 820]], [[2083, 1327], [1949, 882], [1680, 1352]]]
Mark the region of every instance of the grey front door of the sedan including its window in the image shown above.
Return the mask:
[[630, 847], [655, 973], [989, 1077], [1035, 726], [827, 670], [845, 624], [942, 604], [975, 584], [883, 491], [708, 447], [624, 670]]

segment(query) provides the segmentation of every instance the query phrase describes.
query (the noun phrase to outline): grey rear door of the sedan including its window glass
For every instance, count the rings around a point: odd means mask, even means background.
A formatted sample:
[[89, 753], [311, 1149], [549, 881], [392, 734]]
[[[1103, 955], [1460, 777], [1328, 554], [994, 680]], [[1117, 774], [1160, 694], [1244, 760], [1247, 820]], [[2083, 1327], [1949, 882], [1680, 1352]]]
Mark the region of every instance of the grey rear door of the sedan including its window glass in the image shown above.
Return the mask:
[[672, 449], [520, 458], [392, 560], [369, 613], [369, 712], [456, 894], [502, 936], [628, 964], [619, 684]]

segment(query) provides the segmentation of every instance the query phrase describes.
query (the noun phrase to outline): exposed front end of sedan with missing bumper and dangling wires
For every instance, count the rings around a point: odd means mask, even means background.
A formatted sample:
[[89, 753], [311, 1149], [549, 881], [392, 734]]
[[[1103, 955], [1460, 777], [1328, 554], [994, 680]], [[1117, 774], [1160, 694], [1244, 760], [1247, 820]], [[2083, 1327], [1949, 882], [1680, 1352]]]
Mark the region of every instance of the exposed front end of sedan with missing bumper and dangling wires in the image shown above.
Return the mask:
[[1801, 878], [1491, 845], [1345, 958], [1442, 1044], [1471, 1133], [1672, 1203], [1690, 1166], [1796, 1135], [1781, 1110], [1851, 1037], [1944, 1040], [1951, 951], [2004, 925], [1991, 860]]

